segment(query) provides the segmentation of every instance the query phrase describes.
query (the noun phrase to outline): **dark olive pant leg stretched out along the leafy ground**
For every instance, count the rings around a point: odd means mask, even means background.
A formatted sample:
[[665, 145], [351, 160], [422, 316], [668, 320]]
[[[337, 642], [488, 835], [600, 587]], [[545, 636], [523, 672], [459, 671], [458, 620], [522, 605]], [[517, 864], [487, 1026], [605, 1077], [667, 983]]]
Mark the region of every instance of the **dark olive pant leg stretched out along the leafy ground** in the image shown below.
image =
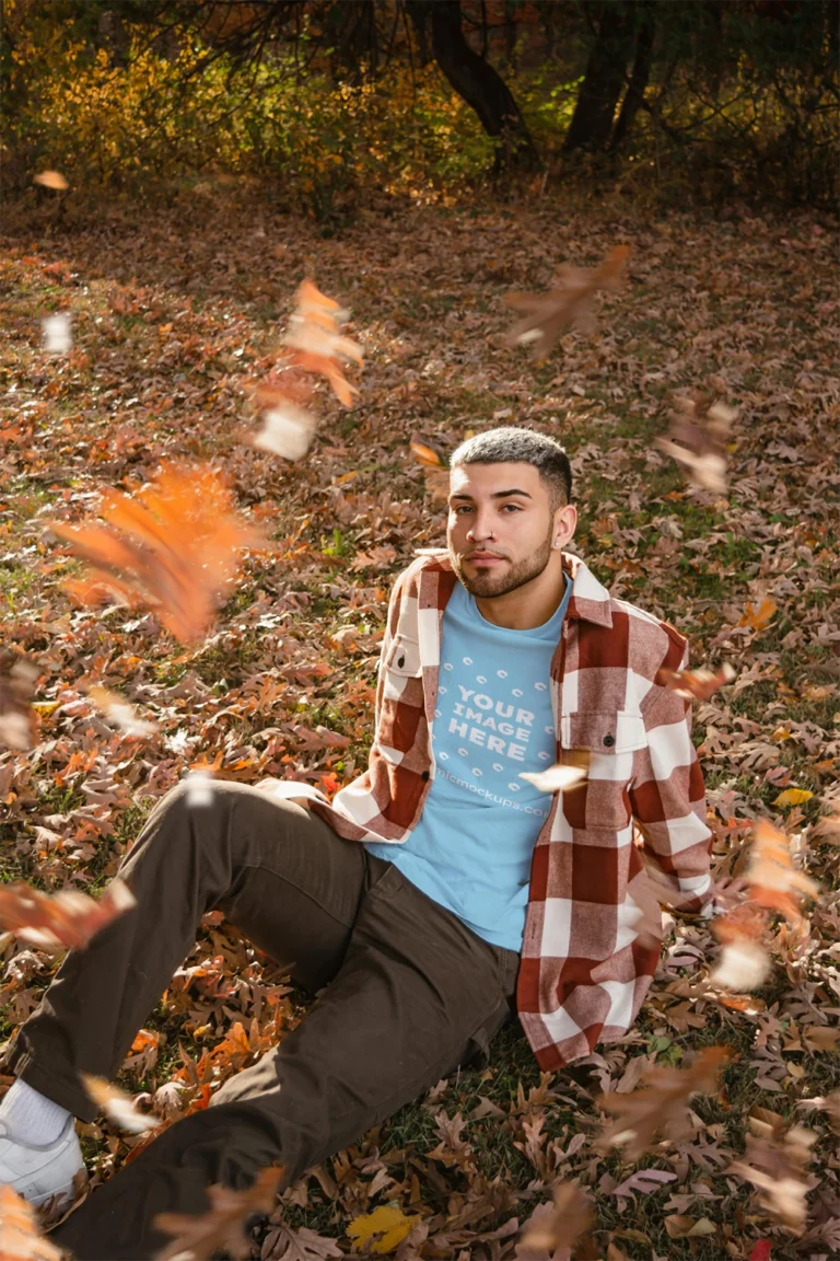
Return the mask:
[[203, 1213], [205, 1187], [283, 1183], [466, 1063], [511, 1011], [519, 956], [476, 937], [394, 866], [366, 892], [341, 968], [301, 1024], [165, 1130], [49, 1236], [77, 1261], [150, 1261], [161, 1212]]

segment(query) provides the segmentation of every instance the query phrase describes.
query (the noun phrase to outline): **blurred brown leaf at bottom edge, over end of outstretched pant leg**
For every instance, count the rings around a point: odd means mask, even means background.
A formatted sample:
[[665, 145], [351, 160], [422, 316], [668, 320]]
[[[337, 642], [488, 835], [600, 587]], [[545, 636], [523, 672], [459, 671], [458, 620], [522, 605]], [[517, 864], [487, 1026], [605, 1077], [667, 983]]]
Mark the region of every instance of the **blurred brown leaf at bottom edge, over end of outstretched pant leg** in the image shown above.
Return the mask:
[[210, 1261], [215, 1252], [227, 1251], [236, 1261], [251, 1256], [251, 1240], [244, 1222], [252, 1213], [271, 1213], [277, 1198], [283, 1166], [263, 1169], [252, 1187], [230, 1190], [208, 1187], [210, 1208], [198, 1217], [190, 1213], [155, 1213], [152, 1226], [173, 1241], [154, 1261]]

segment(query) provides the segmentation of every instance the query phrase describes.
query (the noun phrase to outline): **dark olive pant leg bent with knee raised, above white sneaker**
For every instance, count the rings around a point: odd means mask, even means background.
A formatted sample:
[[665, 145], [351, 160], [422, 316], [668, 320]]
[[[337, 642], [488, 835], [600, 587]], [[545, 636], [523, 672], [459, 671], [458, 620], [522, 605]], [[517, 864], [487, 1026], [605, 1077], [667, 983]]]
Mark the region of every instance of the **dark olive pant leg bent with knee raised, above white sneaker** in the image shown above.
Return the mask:
[[137, 905], [67, 955], [8, 1068], [92, 1121], [98, 1108], [78, 1072], [116, 1076], [205, 912], [219, 907], [315, 990], [338, 971], [366, 881], [385, 869], [301, 806], [224, 782], [196, 806], [179, 786], [120, 866]]

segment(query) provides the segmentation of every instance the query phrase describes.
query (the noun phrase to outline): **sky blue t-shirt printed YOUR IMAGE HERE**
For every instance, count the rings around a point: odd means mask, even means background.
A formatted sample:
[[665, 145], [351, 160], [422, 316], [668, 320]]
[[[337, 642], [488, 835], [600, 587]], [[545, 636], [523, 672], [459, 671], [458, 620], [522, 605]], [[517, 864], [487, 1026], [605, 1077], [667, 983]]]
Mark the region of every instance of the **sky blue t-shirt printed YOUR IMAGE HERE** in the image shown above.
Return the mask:
[[494, 946], [520, 951], [534, 842], [552, 794], [520, 770], [555, 762], [549, 666], [572, 594], [542, 627], [487, 622], [461, 583], [443, 610], [432, 749], [434, 778], [417, 827], [378, 857]]

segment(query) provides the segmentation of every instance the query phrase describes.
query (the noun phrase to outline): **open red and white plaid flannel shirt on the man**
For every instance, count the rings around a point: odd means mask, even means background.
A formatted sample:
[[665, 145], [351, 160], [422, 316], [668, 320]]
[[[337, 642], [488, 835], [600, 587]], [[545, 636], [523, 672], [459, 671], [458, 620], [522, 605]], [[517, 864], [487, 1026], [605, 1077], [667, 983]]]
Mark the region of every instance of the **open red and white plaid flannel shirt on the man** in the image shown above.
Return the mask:
[[[712, 898], [712, 832], [688, 701], [655, 682], [688, 665], [685, 638], [613, 599], [570, 552], [572, 595], [550, 665], [557, 760], [586, 750], [586, 782], [555, 793], [534, 846], [516, 1008], [539, 1064], [555, 1069], [622, 1038], [660, 956], [635, 924], [650, 907], [645, 864], [669, 904]], [[434, 777], [432, 726], [442, 617], [457, 578], [445, 551], [397, 579], [388, 609], [368, 770], [331, 805], [312, 802], [339, 836], [404, 841]]]

